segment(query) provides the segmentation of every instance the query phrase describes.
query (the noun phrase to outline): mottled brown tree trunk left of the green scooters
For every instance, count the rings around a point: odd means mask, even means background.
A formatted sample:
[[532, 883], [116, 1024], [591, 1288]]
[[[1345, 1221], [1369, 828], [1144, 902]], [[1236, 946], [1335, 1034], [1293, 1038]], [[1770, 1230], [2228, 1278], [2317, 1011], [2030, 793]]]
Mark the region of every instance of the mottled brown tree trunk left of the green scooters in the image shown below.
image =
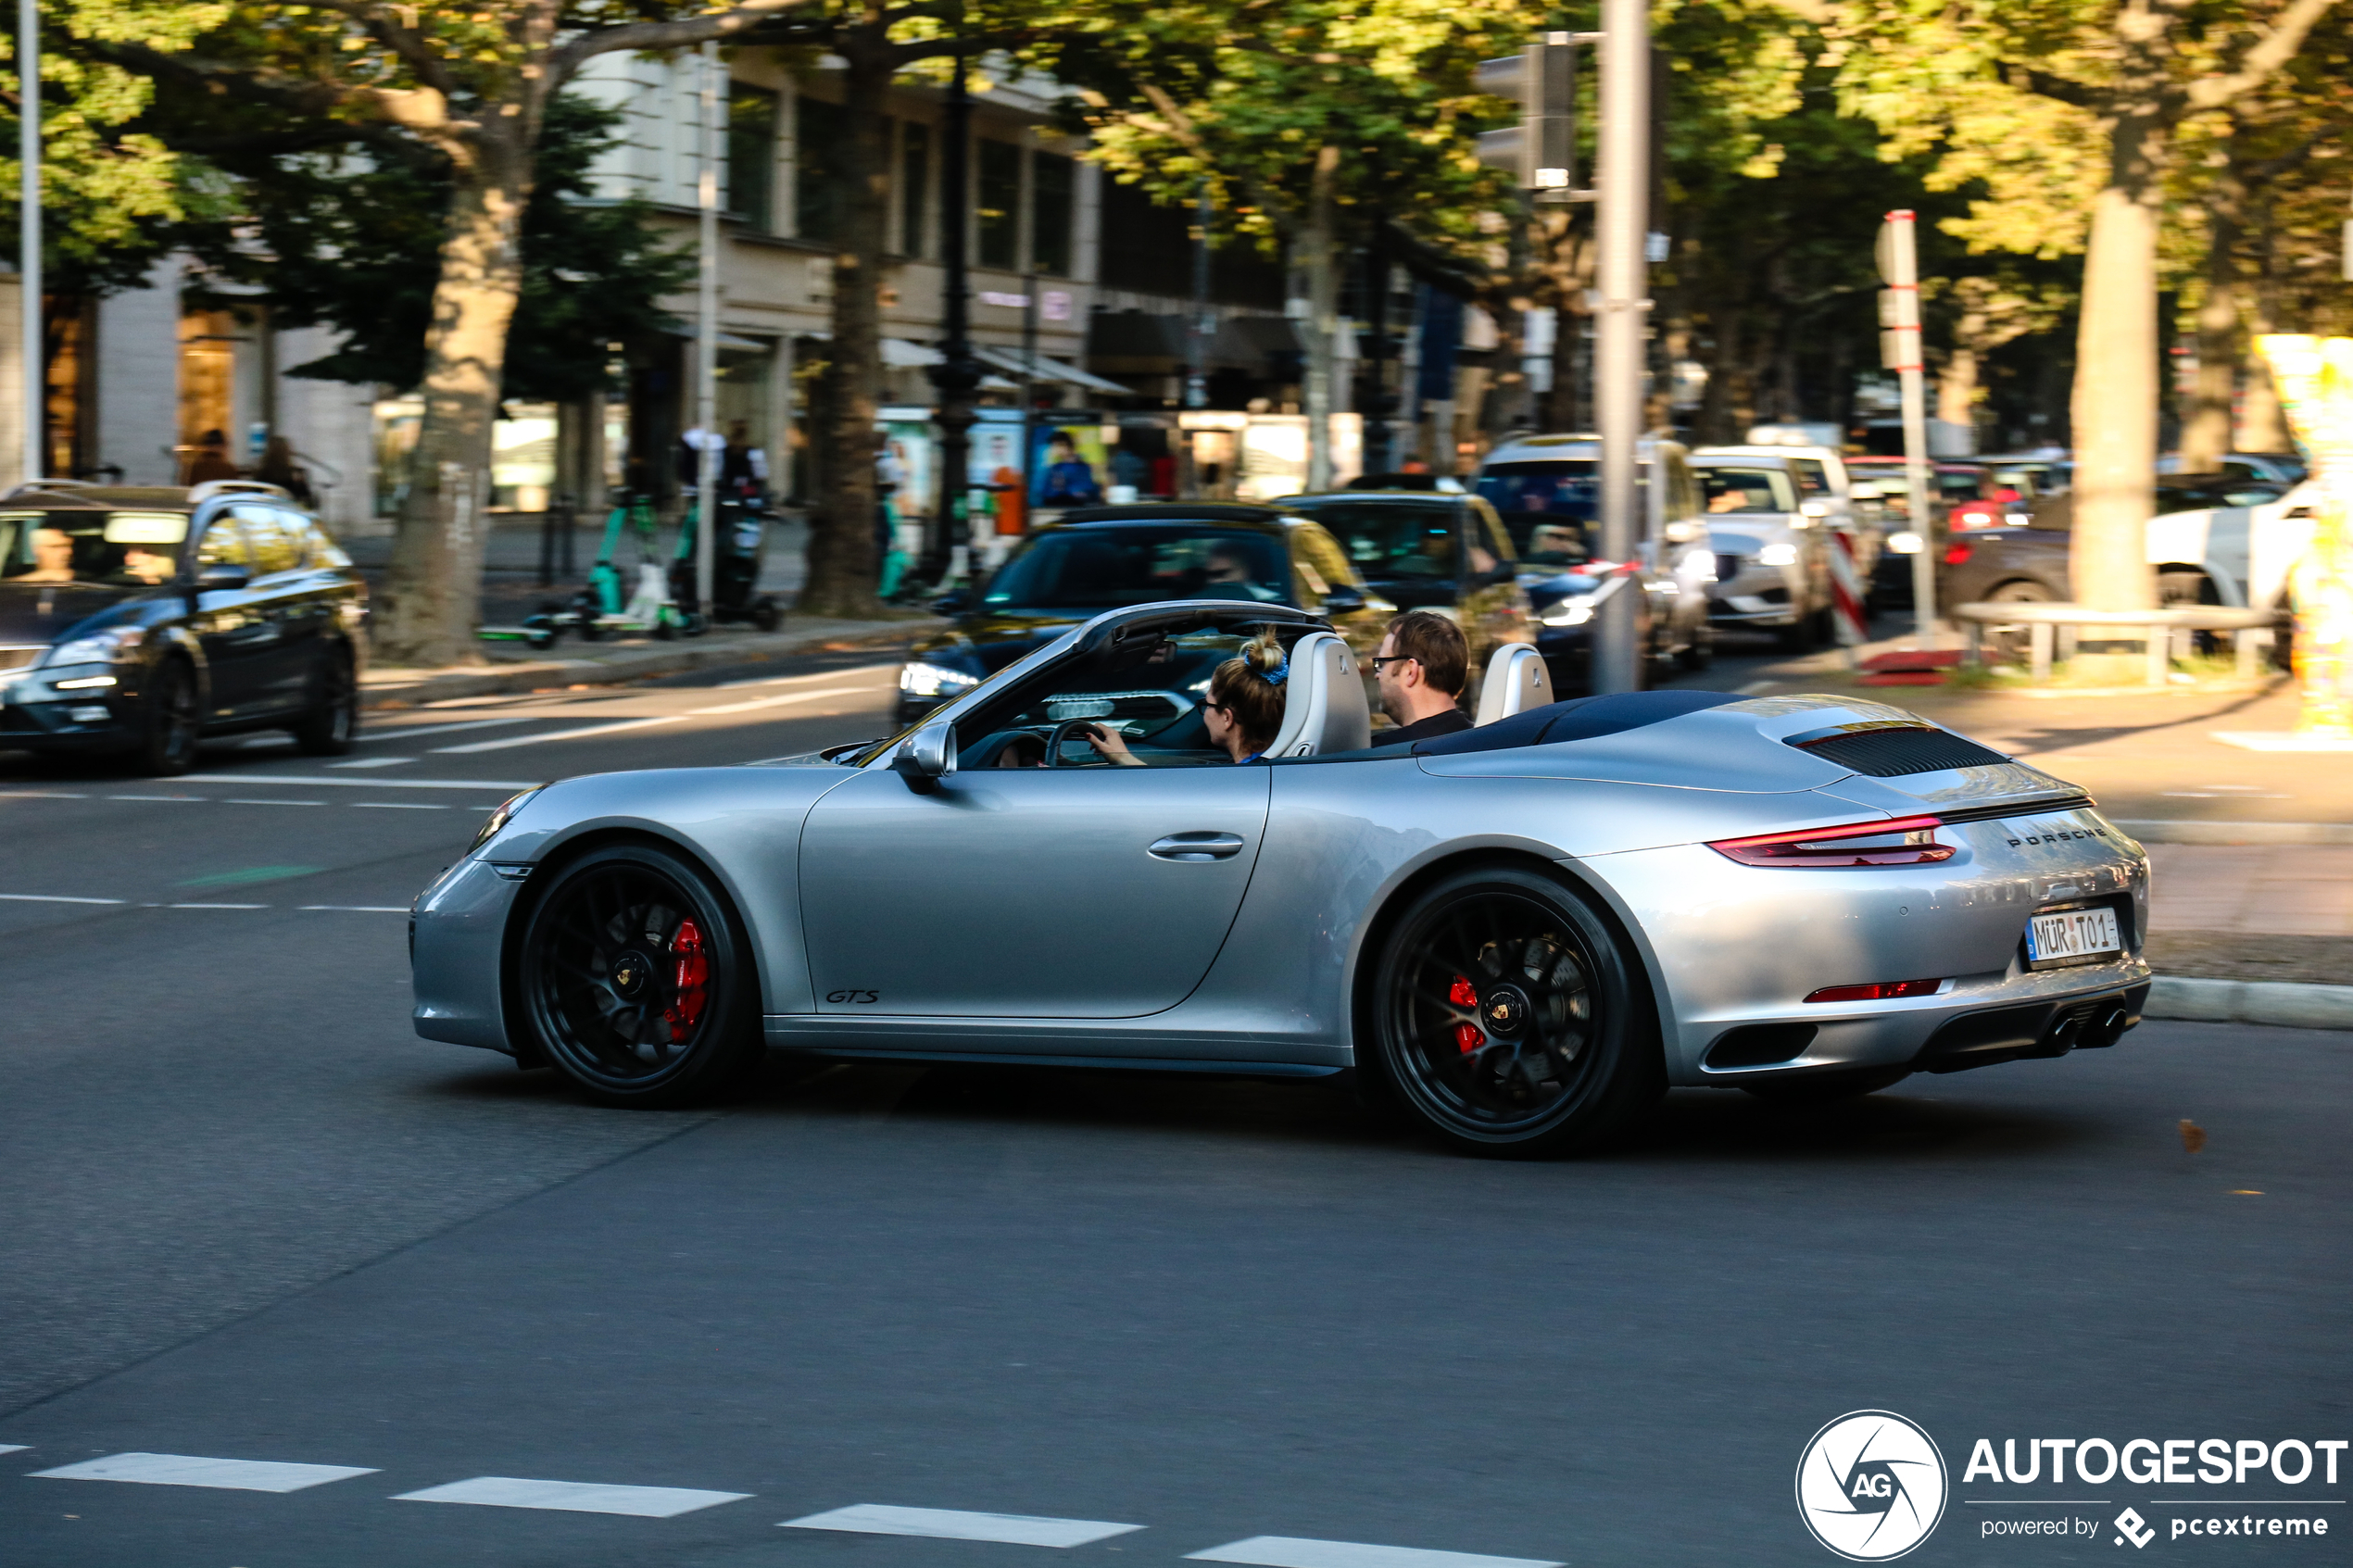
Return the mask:
[[522, 289], [522, 205], [532, 195], [525, 136], [520, 125], [482, 134], [452, 158], [456, 188], [426, 327], [424, 423], [376, 604], [374, 649], [393, 663], [480, 663], [473, 632], [482, 618], [489, 428]]

